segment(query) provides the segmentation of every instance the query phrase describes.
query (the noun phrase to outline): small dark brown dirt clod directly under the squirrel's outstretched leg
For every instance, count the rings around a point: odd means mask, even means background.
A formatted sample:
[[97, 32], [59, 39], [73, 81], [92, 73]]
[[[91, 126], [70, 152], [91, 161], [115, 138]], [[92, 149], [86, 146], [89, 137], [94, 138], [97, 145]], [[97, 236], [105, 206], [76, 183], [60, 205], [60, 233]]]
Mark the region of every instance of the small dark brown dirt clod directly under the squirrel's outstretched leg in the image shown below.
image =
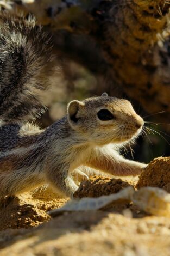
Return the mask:
[[100, 197], [114, 194], [128, 186], [131, 185], [121, 179], [93, 176], [90, 180], [81, 182], [78, 190], [74, 193], [74, 198]]

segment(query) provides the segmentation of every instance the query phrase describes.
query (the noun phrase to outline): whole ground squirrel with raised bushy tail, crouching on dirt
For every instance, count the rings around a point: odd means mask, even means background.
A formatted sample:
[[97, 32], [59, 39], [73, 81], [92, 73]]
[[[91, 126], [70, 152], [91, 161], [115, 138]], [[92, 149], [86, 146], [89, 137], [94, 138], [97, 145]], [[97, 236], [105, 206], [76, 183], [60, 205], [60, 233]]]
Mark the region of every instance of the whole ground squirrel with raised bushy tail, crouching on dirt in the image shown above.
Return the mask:
[[67, 115], [45, 130], [28, 123], [43, 109], [51, 54], [48, 36], [32, 19], [0, 17], [0, 193], [14, 195], [51, 184], [66, 196], [80, 166], [112, 175], [138, 175], [146, 164], [118, 149], [139, 135], [143, 119], [127, 100], [103, 94], [71, 101]]

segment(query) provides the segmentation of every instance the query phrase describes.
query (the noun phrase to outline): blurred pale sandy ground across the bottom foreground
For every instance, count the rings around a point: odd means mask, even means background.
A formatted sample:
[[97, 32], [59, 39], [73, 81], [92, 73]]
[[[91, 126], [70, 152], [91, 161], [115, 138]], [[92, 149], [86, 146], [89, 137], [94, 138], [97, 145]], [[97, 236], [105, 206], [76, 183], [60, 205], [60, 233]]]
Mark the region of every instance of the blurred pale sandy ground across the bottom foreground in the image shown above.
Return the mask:
[[0, 233], [1, 256], [6, 255], [114, 255], [167, 256], [169, 218], [131, 218], [122, 212], [72, 212], [31, 231], [17, 230], [10, 240]]

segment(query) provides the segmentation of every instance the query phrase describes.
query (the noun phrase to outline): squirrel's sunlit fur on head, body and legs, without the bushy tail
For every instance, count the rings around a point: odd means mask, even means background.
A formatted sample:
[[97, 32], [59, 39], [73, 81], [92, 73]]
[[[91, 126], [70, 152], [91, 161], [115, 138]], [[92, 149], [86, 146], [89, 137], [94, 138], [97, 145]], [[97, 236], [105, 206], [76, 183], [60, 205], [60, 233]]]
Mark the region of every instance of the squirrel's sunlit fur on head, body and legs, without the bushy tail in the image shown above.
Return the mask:
[[[98, 119], [103, 108], [112, 112], [113, 120]], [[70, 102], [67, 116], [45, 130], [30, 123], [2, 122], [1, 196], [43, 184], [72, 196], [78, 188], [76, 173], [87, 178], [84, 172], [91, 168], [111, 175], [139, 175], [146, 164], [124, 159], [119, 148], [138, 136], [142, 126], [143, 119], [129, 101], [109, 96]]]

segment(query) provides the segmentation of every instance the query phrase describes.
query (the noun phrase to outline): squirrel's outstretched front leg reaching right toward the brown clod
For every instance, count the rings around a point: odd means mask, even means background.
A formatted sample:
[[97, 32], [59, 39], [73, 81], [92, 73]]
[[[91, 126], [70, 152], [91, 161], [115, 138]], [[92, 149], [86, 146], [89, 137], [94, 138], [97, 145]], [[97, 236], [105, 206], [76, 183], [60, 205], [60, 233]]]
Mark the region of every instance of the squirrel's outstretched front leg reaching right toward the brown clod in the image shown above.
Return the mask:
[[140, 175], [142, 170], [147, 167], [147, 164], [124, 159], [116, 151], [107, 153], [99, 150], [93, 151], [85, 164], [116, 176]]

